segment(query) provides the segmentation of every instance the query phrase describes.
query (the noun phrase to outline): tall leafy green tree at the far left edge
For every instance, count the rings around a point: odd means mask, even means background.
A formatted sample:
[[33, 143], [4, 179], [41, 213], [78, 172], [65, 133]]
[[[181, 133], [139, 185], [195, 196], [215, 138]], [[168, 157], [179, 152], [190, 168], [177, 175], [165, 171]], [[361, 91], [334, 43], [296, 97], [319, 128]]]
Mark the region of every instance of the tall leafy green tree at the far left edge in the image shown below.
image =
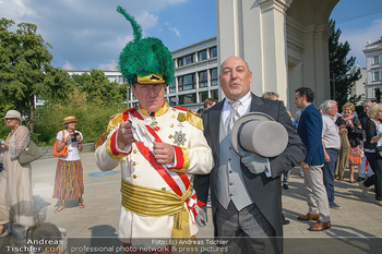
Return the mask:
[[[31, 132], [35, 122], [35, 96], [62, 97], [69, 75], [50, 65], [51, 46], [37, 34], [37, 26], [0, 20], [0, 109], [12, 108], [28, 118]], [[62, 83], [61, 83], [62, 82]]]

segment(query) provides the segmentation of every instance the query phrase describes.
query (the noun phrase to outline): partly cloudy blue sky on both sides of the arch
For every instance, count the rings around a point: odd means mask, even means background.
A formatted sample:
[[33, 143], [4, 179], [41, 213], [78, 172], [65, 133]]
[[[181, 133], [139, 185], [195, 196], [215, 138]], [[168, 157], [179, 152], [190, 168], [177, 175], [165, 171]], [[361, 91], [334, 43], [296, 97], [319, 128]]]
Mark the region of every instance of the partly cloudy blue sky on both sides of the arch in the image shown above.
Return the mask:
[[[216, 36], [215, 0], [0, 0], [0, 16], [36, 24], [52, 46], [53, 66], [110, 70], [132, 39], [117, 5], [135, 16], [144, 36], [160, 38], [171, 51]], [[332, 17], [365, 66], [367, 41], [382, 36], [382, 0], [341, 0]]]

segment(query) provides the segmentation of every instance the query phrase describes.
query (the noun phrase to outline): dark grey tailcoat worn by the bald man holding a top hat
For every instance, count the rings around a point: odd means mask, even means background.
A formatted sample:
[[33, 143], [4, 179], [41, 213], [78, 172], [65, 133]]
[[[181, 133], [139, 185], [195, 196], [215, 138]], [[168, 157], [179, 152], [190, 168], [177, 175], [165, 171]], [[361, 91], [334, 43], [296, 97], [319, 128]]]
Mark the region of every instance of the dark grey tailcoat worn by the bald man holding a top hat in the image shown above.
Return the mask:
[[[215, 215], [218, 205], [216, 197], [216, 179], [219, 166], [219, 124], [223, 104], [224, 100], [208, 110], [205, 110], [203, 114], [204, 135], [212, 148], [215, 167], [210, 174], [195, 176], [194, 179], [194, 189], [198, 198], [204, 203], [207, 201], [208, 186], [211, 184], [211, 202], [215, 235], [217, 235]], [[265, 173], [253, 174], [241, 164], [244, 184], [247, 185], [253, 203], [274, 228], [276, 237], [282, 237], [282, 183], [279, 176], [293, 167], [298, 166], [303, 160], [305, 146], [291, 124], [290, 117], [286, 112], [283, 101], [270, 100], [252, 94], [250, 111], [270, 114], [275, 121], [282, 123], [286, 128], [289, 135], [287, 148], [279, 156], [268, 158], [272, 178], [267, 178]], [[277, 135], [275, 134], [275, 138], [277, 138], [276, 136]]]

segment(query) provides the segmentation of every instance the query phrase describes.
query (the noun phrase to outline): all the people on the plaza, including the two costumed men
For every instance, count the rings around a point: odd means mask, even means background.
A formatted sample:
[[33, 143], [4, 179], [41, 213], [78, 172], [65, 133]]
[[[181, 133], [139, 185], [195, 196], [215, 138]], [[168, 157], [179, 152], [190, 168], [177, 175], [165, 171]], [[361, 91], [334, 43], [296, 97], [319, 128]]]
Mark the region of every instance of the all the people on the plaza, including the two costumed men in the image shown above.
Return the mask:
[[[214, 233], [227, 239], [228, 253], [283, 253], [282, 186], [288, 190], [288, 176], [295, 167], [300, 167], [308, 203], [308, 213], [298, 219], [314, 220], [311, 231], [331, 228], [330, 209], [339, 208], [334, 202], [334, 180], [344, 180], [346, 165], [350, 183], [358, 165], [362, 193], [368, 195], [368, 188], [374, 185], [375, 203], [382, 205], [381, 104], [366, 101], [368, 109], [358, 119], [350, 102], [343, 106], [343, 114], [333, 100], [317, 109], [313, 92], [300, 87], [295, 90], [295, 104], [301, 111], [294, 120], [277, 93], [261, 97], [251, 93], [250, 66], [239, 57], [229, 57], [223, 61], [218, 77], [225, 95], [222, 101], [207, 99], [202, 116], [172, 108], [165, 99], [166, 86], [174, 80], [169, 50], [157, 38], [142, 38], [135, 20], [122, 8], [118, 12], [134, 31], [134, 40], [121, 52], [119, 65], [139, 106], [110, 119], [107, 140], [95, 154], [100, 170], [121, 169], [118, 235], [124, 246], [142, 244], [136, 242], [142, 238], [193, 238], [198, 226], [207, 221], [205, 204], [210, 196]], [[247, 116], [282, 126], [286, 147], [273, 156], [256, 149], [238, 152], [235, 124]], [[33, 229], [38, 219], [31, 164], [17, 161], [29, 132], [22, 125], [20, 112], [10, 110], [3, 119], [11, 132], [7, 141], [0, 141], [4, 166], [0, 174], [0, 231], [9, 222]], [[80, 208], [85, 207], [79, 155], [83, 136], [75, 130], [77, 121], [73, 116], [64, 118], [64, 128], [57, 133], [57, 152], [67, 148], [68, 154], [57, 164], [53, 197], [59, 205], [55, 213], [72, 199], [79, 201]], [[265, 130], [263, 138], [280, 136], [272, 130]], [[359, 165], [367, 167], [368, 162], [366, 176]], [[17, 205], [23, 202], [23, 206]], [[12, 209], [14, 205], [22, 209]]]

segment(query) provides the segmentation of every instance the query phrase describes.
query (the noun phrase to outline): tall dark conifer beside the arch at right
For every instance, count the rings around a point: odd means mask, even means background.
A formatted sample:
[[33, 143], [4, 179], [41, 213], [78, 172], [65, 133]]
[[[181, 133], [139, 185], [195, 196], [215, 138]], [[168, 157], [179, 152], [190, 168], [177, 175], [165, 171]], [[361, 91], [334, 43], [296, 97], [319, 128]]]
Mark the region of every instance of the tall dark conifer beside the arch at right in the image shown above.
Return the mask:
[[361, 77], [361, 74], [359, 69], [355, 72], [349, 72], [350, 68], [355, 65], [356, 58], [350, 57], [347, 59], [350, 46], [347, 41], [344, 44], [338, 43], [342, 32], [339, 28], [335, 28], [335, 21], [331, 20], [329, 27], [333, 31], [332, 36], [329, 38], [330, 75], [332, 81], [331, 97], [337, 101], [338, 108], [342, 108], [346, 101], [356, 104], [360, 100], [361, 96], [349, 96], [351, 87]]

